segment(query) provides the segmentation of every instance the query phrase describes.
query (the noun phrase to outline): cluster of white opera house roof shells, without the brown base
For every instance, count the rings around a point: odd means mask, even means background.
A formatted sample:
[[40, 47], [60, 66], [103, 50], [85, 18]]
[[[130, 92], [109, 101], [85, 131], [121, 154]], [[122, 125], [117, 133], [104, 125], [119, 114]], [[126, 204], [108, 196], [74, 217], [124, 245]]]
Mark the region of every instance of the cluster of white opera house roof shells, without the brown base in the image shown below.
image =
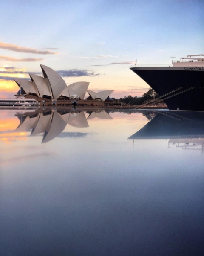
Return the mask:
[[66, 85], [62, 77], [50, 67], [40, 64], [42, 76], [29, 74], [31, 81], [25, 79], [14, 79], [20, 90], [17, 95], [36, 95], [39, 98], [59, 99], [78, 96], [79, 99], [84, 99], [86, 92], [89, 93], [92, 99], [105, 101], [114, 90], [105, 90], [95, 93], [87, 90], [89, 82], [75, 82]]

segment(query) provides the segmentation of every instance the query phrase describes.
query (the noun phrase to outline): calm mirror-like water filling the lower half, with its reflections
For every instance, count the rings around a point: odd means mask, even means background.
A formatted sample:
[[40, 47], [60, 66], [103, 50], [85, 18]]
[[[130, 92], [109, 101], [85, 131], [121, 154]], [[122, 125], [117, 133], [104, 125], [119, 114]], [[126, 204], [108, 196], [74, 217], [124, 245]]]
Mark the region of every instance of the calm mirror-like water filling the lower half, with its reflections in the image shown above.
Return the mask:
[[204, 255], [204, 114], [0, 110], [0, 255]]

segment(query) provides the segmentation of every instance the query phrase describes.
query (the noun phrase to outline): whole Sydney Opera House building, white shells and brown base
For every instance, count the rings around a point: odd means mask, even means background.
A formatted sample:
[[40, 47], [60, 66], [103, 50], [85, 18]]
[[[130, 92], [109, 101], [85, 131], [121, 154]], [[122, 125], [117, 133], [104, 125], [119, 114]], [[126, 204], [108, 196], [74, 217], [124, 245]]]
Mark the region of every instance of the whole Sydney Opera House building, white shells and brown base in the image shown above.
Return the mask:
[[[66, 85], [62, 77], [50, 67], [40, 65], [42, 76], [29, 74], [31, 81], [14, 79], [19, 86], [16, 96], [23, 95], [26, 98], [32, 96], [37, 101], [45, 100], [50, 105], [51, 99], [57, 99], [58, 105], [72, 105], [72, 99], [78, 99], [78, 105], [102, 106], [104, 102], [112, 101], [109, 97], [114, 90], [94, 92], [88, 90], [89, 82], [76, 82]], [[89, 97], [85, 100], [86, 92]]]

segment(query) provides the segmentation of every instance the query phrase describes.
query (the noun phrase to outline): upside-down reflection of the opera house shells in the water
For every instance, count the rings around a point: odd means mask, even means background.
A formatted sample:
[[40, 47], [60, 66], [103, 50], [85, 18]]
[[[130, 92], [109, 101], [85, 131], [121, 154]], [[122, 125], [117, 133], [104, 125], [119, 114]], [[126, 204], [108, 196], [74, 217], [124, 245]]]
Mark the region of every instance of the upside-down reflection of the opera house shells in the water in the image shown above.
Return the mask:
[[[88, 111], [87, 119], [113, 119], [105, 110]], [[88, 127], [88, 121], [85, 113], [79, 110], [74, 111], [31, 111], [23, 114], [16, 113], [20, 119], [20, 125], [17, 127], [17, 132], [31, 131], [31, 136], [44, 133], [42, 143], [53, 140], [65, 129], [66, 125], [71, 125], [77, 128]]]

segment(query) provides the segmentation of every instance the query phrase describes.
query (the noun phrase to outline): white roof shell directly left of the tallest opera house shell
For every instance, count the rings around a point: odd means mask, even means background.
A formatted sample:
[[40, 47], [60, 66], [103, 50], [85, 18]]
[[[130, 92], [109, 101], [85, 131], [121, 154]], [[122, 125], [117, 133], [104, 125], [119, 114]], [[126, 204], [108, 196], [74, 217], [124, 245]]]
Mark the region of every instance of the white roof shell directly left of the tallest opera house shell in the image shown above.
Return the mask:
[[31, 77], [31, 80], [36, 84], [41, 98], [43, 98], [43, 95], [51, 96], [51, 92], [44, 77], [37, 76], [35, 74], [29, 74], [29, 76]]

